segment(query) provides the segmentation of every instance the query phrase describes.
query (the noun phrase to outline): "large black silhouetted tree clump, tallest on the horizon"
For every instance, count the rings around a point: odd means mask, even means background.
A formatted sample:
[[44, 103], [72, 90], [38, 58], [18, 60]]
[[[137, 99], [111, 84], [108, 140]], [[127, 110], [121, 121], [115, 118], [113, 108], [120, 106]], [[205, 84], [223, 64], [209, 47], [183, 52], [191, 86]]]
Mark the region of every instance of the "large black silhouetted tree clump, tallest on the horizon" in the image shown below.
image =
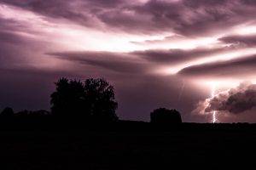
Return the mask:
[[55, 82], [56, 90], [51, 94], [51, 112], [63, 118], [85, 118], [85, 120], [112, 122], [117, 102], [113, 86], [101, 78], [84, 82], [61, 78]]

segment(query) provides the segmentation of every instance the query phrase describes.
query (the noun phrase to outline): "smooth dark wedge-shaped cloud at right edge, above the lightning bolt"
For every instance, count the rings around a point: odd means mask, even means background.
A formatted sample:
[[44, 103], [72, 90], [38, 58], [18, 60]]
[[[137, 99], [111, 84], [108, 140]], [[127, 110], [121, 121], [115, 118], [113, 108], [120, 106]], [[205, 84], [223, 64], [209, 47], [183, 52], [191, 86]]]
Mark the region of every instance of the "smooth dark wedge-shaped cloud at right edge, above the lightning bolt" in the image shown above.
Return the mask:
[[256, 71], [256, 55], [217, 61], [204, 65], [193, 65], [179, 71], [179, 75], [189, 77], [236, 77]]

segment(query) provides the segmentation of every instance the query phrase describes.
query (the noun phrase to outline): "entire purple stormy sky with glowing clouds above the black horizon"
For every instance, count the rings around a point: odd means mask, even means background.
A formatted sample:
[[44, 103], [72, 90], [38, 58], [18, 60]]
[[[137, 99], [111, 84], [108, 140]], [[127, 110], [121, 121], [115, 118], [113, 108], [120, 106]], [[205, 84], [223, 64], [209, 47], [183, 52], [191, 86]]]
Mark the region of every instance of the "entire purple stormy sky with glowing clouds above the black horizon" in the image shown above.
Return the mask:
[[0, 108], [49, 110], [59, 77], [104, 77], [121, 119], [256, 122], [256, 1], [0, 0]]

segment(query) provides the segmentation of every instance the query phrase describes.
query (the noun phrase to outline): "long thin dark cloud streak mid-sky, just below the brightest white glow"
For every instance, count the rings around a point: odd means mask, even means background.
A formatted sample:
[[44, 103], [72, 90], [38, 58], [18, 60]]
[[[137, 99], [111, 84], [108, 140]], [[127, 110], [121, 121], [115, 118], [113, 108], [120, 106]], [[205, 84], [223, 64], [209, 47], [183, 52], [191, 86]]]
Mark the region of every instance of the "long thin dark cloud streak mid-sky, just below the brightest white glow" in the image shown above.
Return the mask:
[[77, 61], [85, 65], [95, 65], [112, 71], [119, 72], [145, 72], [150, 66], [170, 65], [183, 63], [192, 59], [207, 57], [212, 54], [224, 53], [235, 48], [195, 48], [183, 49], [154, 49], [134, 51], [129, 53], [111, 52], [67, 52], [52, 53], [60, 59]]

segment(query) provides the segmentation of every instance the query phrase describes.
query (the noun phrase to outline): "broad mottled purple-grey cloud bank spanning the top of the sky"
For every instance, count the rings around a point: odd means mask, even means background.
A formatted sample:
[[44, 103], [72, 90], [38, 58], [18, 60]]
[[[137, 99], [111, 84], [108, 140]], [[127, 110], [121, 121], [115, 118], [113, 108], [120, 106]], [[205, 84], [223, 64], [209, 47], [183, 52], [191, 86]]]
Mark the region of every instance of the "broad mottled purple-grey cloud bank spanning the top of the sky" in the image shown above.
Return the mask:
[[175, 31], [186, 36], [223, 31], [254, 20], [256, 6], [251, 1], [61, 1], [2, 0], [51, 18], [63, 18], [80, 25], [133, 33]]

